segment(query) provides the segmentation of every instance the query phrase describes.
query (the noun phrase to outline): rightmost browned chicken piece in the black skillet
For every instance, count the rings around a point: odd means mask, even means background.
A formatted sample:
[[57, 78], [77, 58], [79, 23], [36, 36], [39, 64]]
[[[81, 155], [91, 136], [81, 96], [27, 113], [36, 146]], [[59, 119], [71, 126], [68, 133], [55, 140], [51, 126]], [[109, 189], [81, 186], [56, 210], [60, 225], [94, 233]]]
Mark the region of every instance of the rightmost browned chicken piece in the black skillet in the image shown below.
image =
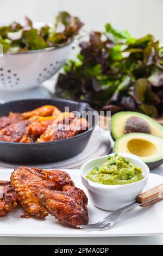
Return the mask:
[[71, 138], [78, 133], [86, 130], [89, 124], [85, 118], [74, 118], [70, 124], [49, 125], [36, 142], [58, 141], [59, 139]]

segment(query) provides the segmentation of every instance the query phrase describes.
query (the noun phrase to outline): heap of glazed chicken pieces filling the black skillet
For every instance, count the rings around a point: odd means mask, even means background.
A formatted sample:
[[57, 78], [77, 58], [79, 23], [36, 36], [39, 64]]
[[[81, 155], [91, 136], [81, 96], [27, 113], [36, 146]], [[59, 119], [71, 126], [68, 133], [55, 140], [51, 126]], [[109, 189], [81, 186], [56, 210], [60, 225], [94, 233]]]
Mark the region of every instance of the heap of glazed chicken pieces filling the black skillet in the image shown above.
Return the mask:
[[0, 141], [21, 143], [57, 141], [73, 137], [87, 127], [86, 119], [77, 119], [73, 112], [62, 113], [57, 107], [47, 105], [22, 114], [10, 112], [8, 116], [1, 117]]

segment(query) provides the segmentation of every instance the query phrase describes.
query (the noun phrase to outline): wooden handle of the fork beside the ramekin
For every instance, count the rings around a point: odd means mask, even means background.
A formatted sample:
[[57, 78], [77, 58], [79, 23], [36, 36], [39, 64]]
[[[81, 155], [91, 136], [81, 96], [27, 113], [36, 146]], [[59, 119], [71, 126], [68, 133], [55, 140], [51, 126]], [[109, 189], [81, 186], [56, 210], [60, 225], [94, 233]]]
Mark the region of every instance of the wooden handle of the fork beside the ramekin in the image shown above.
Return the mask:
[[[152, 202], [148, 202], [149, 200], [152, 200], [156, 197], [159, 197], [158, 199], [153, 200]], [[163, 199], [163, 184], [160, 184], [159, 186], [153, 187], [151, 190], [148, 190], [146, 192], [143, 192], [142, 194], [139, 194], [136, 197], [136, 201], [139, 203], [145, 203], [141, 205], [141, 207], [146, 207], [148, 205], [154, 204], [160, 200]], [[148, 203], [146, 203], [148, 202]]]

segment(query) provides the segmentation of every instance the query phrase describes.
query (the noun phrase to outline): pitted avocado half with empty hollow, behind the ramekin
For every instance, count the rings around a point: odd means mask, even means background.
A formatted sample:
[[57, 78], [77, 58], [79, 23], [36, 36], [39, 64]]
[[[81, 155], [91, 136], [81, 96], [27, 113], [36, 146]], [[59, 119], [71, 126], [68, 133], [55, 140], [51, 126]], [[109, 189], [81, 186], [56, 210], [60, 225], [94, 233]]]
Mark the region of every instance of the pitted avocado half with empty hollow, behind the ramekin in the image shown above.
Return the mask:
[[115, 141], [114, 152], [137, 155], [149, 169], [153, 169], [163, 163], [163, 138], [146, 133], [127, 133]]

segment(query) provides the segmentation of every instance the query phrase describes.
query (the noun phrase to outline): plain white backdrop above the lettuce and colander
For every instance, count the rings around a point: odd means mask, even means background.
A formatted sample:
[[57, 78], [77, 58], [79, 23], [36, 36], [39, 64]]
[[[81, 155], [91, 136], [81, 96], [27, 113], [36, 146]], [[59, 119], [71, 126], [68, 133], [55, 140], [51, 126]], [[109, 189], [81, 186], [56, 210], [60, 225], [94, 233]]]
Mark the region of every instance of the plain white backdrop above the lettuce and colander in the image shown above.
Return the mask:
[[110, 22], [134, 36], [152, 33], [163, 42], [162, 0], [0, 0], [0, 22], [21, 21], [25, 15], [52, 22], [59, 10], [79, 16], [87, 31]]

